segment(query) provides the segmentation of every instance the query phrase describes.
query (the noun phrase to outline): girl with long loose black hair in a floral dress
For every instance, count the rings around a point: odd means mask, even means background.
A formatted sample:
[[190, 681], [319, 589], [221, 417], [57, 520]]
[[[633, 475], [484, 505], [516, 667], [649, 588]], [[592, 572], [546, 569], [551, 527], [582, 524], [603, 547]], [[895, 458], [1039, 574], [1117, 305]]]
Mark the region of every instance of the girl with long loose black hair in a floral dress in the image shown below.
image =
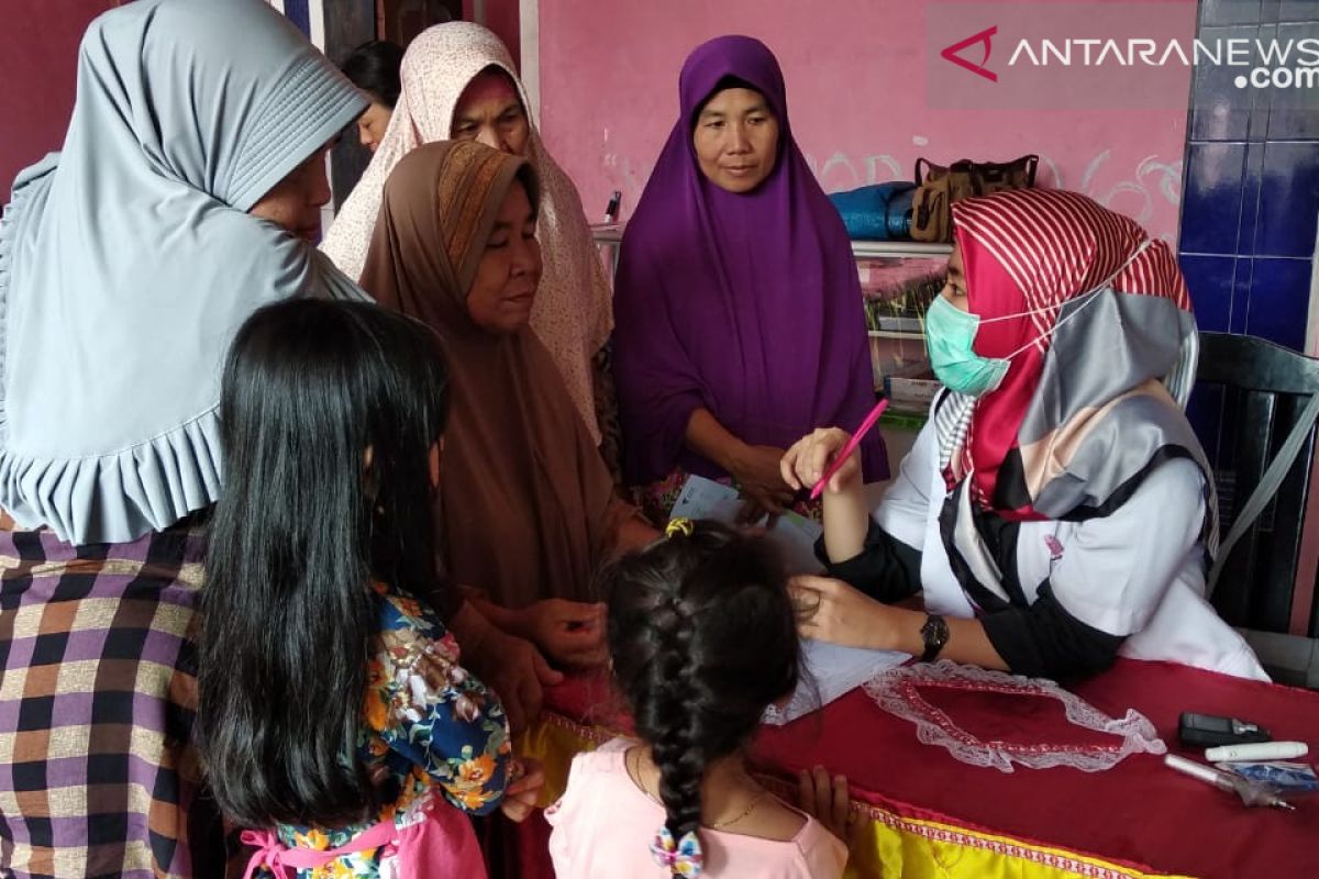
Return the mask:
[[484, 876], [463, 812], [525, 817], [497, 697], [443, 619], [431, 505], [448, 398], [438, 337], [360, 303], [291, 300], [239, 331], [220, 401], [202, 754], [256, 830], [249, 875]]

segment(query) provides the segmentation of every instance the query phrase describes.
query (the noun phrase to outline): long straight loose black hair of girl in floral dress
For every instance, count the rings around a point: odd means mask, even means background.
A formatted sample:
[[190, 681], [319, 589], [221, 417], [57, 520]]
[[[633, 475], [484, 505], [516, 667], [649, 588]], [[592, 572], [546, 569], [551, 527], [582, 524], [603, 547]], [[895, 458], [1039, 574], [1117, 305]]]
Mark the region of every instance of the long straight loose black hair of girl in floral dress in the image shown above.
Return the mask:
[[429, 461], [447, 398], [439, 339], [371, 303], [282, 302], [233, 340], [197, 723], [215, 799], [241, 825], [342, 824], [376, 805], [352, 759], [369, 584], [439, 586]]

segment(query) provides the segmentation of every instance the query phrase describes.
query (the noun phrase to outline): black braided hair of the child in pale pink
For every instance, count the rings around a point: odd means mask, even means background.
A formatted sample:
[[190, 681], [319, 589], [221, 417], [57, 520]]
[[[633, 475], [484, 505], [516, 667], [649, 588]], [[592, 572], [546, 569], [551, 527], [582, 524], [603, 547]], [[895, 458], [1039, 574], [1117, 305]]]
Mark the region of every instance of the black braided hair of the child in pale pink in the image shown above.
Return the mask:
[[665, 825], [700, 825], [706, 766], [739, 751], [797, 685], [801, 644], [778, 548], [714, 521], [603, 575], [613, 675], [660, 768]]

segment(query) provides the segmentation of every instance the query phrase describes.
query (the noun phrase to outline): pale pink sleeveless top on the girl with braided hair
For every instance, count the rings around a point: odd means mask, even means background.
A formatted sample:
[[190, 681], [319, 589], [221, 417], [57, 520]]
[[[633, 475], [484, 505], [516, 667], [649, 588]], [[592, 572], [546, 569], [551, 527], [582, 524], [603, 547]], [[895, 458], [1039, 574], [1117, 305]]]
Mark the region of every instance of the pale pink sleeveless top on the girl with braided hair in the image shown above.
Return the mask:
[[[558, 879], [667, 875], [650, 857], [650, 841], [665, 820], [663, 807], [633, 783], [623, 763], [634, 743], [613, 739], [572, 759], [567, 791], [545, 812], [554, 828], [550, 857]], [[847, 847], [809, 816], [785, 842], [702, 828], [700, 845], [706, 855], [700, 875], [707, 879], [836, 879], [847, 863]]]

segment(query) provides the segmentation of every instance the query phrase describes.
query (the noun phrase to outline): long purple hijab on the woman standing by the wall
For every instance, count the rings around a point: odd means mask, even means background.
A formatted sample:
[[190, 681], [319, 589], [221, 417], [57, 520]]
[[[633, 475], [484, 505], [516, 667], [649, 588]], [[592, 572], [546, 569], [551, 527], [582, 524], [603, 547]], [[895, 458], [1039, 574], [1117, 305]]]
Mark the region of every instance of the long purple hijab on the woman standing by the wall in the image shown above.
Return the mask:
[[[760, 91], [780, 127], [774, 170], [747, 194], [710, 182], [691, 142], [700, 107], [729, 76]], [[851, 245], [793, 140], [778, 61], [758, 40], [719, 37], [691, 53], [678, 91], [682, 115], [628, 223], [616, 278], [630, 485], [675, 465], [725, 476], [685, 445], [700, 407], [745, 443], [787, 448], [815, 427], [853, 430], [874, 403]], [[888, 477], [878, 431], [861, 455], [867, 480]]]

